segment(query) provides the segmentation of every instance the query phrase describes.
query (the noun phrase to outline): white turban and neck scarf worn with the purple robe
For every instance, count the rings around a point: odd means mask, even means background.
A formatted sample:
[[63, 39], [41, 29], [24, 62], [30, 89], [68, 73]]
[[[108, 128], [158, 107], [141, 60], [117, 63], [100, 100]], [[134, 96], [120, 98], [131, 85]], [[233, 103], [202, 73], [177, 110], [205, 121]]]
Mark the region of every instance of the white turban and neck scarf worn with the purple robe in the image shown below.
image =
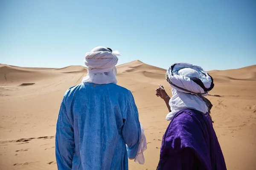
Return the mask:
[[[214, 84], [212, 77], [201, 67], [188, 63], [174, 63], [166, 71], [166, 79], [172, 86], [172, 97], [169, 100], [171, 112], [167, 114], [167, 120], [172, 120], [179, 111], [189, 108], [207, 113], [210, 108], [201, 96], [207, 96]], [[204, 89], [192, 79], [200, 80]]]

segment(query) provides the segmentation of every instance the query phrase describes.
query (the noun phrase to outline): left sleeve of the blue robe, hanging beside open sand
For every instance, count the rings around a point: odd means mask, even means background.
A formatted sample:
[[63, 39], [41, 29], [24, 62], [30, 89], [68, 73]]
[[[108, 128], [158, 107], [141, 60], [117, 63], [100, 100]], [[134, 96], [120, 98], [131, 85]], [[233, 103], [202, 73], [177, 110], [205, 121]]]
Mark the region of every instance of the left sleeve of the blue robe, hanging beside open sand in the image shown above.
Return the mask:
[[[66, 95], [65, 95], [66, 96]], [[67, 116], [65, 96], [61, 102], [55, 136], [55, 154], [58, 170], [71, 170], [74, 154], [74, 130]]]

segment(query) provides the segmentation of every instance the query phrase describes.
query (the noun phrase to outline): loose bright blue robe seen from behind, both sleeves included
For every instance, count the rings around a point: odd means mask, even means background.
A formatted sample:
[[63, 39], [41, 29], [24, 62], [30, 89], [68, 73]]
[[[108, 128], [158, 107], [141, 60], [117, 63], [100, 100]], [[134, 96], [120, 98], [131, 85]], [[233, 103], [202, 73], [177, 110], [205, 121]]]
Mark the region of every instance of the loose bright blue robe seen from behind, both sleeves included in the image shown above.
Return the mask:
[[69, 88], [56, 127], [58, 170], [128, 170], [140, 134], [131, 91], [113, 83]]

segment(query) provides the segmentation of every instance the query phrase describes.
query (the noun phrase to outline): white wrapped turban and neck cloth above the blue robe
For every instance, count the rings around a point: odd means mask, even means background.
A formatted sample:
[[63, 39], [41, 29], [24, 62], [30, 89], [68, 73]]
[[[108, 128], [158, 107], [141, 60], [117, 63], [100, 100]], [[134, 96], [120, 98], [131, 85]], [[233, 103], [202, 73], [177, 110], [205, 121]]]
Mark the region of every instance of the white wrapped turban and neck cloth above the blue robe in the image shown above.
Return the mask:
[[117, 83], [116, 64], [118, 62], [118, 51], [110, 51], [105, 47], [93, 48], [91, 52], [85, 54], [84, 64], [88, 67], [87, 76], [82, 82], [92, 82], [95, 84]]

